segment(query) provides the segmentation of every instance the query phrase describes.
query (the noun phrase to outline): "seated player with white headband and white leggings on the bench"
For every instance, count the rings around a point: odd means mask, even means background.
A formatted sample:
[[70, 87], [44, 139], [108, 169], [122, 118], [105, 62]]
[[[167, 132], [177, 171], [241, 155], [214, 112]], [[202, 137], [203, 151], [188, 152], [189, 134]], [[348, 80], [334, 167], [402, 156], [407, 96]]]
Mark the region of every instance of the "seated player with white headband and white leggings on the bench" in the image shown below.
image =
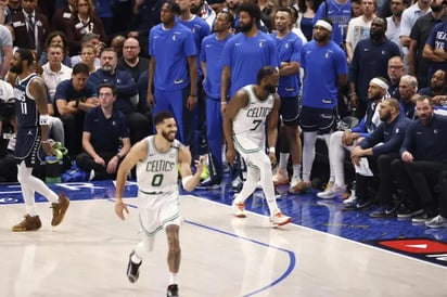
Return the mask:
[[[384, 78], [375, 77], [371, 79], [368, 88], [368, 108], [367, 113], [360, 122], [352, 129], [345, 131], [333, 132], [329, 139], [329, 164], [331, 168], [331, 176], [327, 190], [317, 194], [318, 197], [328, 199], [341, 196], [346, 191], [344, 160], [345, 151], [352, 151], [354, 146], [369, 133], [372, 133], [380, 125], [379, 103], [386, 96], [387, 81]], [[352, 193], [349, 199], [345, 201], [346, 205], [357, 207], [355, 193]], [[361, 204], [359, 206], [362, 206]]]

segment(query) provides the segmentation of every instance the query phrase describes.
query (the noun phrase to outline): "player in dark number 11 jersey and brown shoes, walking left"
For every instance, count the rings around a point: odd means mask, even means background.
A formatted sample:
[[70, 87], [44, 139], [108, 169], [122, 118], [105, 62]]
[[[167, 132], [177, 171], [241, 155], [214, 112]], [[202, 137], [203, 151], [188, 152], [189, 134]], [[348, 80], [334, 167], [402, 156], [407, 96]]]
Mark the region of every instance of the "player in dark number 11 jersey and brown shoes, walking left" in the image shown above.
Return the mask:
[[28, 49], [18, 49], [11, 60], [11, 72], [17, 74], [14, 86], [15, 113], [17, 117], [15, 158], [18, 164], [17, 180], [21, 183], [26, 206], [25, 219], [12, 231], [33, 231], [41, 227], [36, 212], [35, 193], [51, 202], [53, 219], [58, 225], [64, 219], [69, 201], [63, 194], [51, 191], [41, 180], [33, 176], [33, 167], [40, 165], [44, 155], [53, 150], [48, 141], [48, 108], [44, 82], [33, 72], [34, 56]]

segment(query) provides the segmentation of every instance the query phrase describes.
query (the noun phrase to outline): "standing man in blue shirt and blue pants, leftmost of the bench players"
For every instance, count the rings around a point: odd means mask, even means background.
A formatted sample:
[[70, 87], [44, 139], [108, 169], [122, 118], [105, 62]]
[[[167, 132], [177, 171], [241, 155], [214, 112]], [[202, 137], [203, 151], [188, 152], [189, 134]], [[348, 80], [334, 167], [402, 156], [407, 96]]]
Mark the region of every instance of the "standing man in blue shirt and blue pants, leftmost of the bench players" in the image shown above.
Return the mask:
[[162, 5], [162, 24], [149, 36], [148, 95], [153, 113], [170, 111], [178, 125], [178, 139], [186, 145], [184, 109], [192, 112], [197, 104], [197, 49], [191, 29], [180, 25], [176, 15], [179, 4], [166, 1]]

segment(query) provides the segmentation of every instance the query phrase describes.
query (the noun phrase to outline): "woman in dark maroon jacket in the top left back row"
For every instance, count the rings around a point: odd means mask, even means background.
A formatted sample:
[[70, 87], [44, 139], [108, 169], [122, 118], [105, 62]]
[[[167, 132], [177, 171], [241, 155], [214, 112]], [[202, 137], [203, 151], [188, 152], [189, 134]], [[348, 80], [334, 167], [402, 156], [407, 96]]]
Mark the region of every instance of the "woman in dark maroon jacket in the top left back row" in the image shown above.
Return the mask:
[[97, 16], [92, 1], [76, 0], [75, 3], [75, 17], [69, 22], [65, 31], [71, 55], [77, 54], [80, 51], [81, 39], [86, 34], [97, 34], [101, 41], [106, 41], [102, 21]]

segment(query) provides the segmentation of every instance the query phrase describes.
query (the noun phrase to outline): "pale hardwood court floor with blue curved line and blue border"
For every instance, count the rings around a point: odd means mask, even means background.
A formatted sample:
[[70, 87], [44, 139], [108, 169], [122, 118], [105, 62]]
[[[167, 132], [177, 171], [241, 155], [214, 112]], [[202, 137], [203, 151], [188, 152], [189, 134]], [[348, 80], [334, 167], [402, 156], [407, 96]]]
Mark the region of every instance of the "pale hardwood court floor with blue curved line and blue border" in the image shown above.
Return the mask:
[[[114, 214], [113, 183], [80, 192], [63, 188], [73, 197], [65, 221], [52, 228], [49, 204], [38, 203], [42, 229], [27, 233], [10, 231], [24, 205], [16, 204], [15, 190], [2, 189], [1, 296], [166, 296], [164, 233], [138, 283], [126, 276], [128, 255], [139, 240], [135, 189], [126, 190], [130, 215], [123, 222]], [[272, 229], [255, 212], [237, 219], [230, 206], [205, 197], [184, 195], [181, 207], [183, 297], [447, 296], [443, 266], [298, 224]]]

